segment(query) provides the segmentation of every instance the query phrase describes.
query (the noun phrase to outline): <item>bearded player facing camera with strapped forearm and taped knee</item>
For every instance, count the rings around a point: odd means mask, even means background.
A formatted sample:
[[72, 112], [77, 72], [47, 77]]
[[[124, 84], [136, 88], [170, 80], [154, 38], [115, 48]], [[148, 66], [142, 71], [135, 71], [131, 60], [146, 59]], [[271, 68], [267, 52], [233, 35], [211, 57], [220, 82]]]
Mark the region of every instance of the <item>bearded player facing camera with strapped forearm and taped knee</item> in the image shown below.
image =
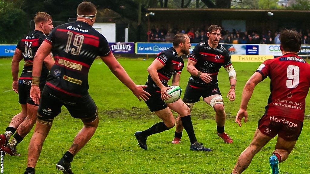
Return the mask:
[[[236, 98], [237, 76], [228, 51], [219, 44], [221, 30], [221, 27], [218, 25], [211, 25], [207, 33], [208, 41], [200, 42], [189, 55], [186, 69], [191, 76], [185, 89], [183, 101], [192, 110], [195, 102], [198, 102], [200, 97], [202, 97], [203, 101], [215, 111], [217, 135], [225, 143], [232, 143], [232, 139], [224, 132], [226, 114], [217, 76], [219, 68], [223, 66], [229, 75], [230, 89], [226, 97], [229, 97], [231, 102]], [[181, 141], [182, 124], [184, 123], [180, 121], [180, 115], [178, 115], [175, 126], [175, 138], [171, 143], [178, 144]]]

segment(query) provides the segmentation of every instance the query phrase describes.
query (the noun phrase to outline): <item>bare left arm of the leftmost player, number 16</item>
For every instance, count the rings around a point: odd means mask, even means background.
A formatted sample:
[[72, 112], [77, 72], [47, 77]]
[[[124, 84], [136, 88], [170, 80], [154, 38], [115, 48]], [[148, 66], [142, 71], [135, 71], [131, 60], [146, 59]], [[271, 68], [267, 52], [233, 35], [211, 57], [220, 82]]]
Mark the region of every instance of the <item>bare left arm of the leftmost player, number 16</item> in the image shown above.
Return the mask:
[[19, 63], [23, 59], [23, 55], [20, 51], [20, 49], [16, 48], [12, 63], [11, 63], [11, 68], [12, 68], [12, 77], [13, 77], [13, 83], [12, 83], [12, 89], [15, 91], [15, 93], [18, 93], [18, 72], [19, 72]]

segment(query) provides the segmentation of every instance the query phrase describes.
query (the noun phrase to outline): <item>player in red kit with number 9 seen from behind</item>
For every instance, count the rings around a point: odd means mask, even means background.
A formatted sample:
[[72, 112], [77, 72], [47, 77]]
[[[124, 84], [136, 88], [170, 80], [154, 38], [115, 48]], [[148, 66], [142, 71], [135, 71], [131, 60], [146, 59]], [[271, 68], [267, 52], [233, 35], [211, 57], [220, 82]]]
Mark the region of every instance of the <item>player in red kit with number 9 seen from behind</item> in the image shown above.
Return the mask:
[[245, 123], [248, 119], [246, 109], [255, 86], [267, 77], [270, 78], [271, 94], [265, 113], [258, 121], [254, 138], [239, 156], [233, 174], [246, 170], [254, 155], [276, 135], [277, 143], [269, 164], [270, 173], [279, 174], [279, 163], [287, 159], [301, 133], [305, 98], [310, 86], [310, 65], [297, 55], [301, 44], [301, 36], [297, 32], [284, 30], [279, 39], [283, 56], [263, 62], [244, 86], [236, 116], [239, 126], [242, 118]]

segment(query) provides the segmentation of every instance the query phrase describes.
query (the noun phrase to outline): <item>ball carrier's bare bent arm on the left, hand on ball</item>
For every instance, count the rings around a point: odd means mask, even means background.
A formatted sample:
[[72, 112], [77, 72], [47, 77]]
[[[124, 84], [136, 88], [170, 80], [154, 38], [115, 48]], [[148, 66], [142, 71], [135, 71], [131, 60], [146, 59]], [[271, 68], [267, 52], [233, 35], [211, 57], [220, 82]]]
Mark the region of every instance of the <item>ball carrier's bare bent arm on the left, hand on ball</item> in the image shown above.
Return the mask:
[[167, 100], [168, 98], [170, 98], [170, 95], [167, 93], [167, 90], [171, 89], [171, 87], [164, 86], [159, 79], [157, 70], [161, 69], [162, 67], [164, 67], [164, 65], [159, 60], [155, 59], [148, 67], [148, 73], [150, 74], [156, 85], [160, 88], [162, 100]]

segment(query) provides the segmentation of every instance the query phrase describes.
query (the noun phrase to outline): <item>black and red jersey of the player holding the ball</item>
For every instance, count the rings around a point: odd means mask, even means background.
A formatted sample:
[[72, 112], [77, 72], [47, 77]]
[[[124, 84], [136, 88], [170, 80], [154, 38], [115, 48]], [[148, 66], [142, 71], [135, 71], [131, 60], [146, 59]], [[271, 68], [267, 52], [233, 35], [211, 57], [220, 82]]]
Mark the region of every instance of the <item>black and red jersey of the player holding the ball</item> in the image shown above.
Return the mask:
[[[178, 56], [178, 53], [173, 47], [157, 54], [156, 59], [164, 65], [164, 67], [157, 70], [158, 77], [164, 86], [169, 86], [168, 81], [171, 79], [172, 75], [176, 73], [181, 74], [184, 67], [184, 61], [181, 56]], [[146, 85], [148, 85], [149, 89], [160, 91], [150, 75], [148, 75]]]

